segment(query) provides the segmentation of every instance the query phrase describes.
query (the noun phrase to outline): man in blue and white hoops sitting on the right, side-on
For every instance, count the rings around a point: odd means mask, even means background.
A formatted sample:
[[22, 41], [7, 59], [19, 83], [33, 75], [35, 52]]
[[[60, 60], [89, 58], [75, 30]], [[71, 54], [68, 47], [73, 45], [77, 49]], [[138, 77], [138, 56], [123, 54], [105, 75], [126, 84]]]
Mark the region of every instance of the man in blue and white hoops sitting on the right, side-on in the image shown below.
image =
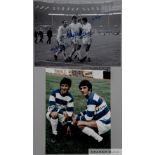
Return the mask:
[[[82, 95], [87, 99], [87, 108], [74, 118], [74, 123], [82, 129], [82, 132], [92, 136], [98, 142], [103, 141], [101, 134], [111, 129], [111, 113], [105, 100], [92, 92], [92, 84], [83, 80], [79, 84]], [[98, 129], [98, 133], [93, 130]]]

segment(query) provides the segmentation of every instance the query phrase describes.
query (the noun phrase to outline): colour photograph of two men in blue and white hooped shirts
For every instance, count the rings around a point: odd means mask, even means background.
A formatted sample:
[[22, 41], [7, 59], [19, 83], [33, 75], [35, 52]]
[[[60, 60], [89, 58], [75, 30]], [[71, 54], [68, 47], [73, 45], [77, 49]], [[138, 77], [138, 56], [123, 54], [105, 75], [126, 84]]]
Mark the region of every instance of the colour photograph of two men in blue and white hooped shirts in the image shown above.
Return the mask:
[[110, 68], [46, 68], [46, 154], [111, 149]]

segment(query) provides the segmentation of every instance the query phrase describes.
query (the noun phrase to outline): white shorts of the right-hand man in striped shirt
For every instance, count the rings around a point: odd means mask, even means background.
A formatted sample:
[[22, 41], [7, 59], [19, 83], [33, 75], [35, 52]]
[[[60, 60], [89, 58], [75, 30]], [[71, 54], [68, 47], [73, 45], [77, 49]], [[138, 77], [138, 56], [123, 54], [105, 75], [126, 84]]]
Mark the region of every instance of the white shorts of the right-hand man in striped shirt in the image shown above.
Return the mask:
[[111, 123], [104, 124], [100, 120], [97, 120], [96, 124], [97, 124], [99, 135], [104, 134], [104, 133], [108, 132], [111, 129]]

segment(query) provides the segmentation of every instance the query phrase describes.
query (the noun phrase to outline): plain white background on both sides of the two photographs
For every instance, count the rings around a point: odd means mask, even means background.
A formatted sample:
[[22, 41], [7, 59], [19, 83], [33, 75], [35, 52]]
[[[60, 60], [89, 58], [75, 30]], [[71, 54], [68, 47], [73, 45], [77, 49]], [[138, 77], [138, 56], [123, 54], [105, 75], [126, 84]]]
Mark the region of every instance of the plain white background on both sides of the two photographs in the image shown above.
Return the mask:
[[[123, 1], [123, 155], [155, 154], [154, 0]], [[33, 154], [33, 1], [1, 1], [0, 154]], [[10, 34], [10, 35], [8, 35]]]

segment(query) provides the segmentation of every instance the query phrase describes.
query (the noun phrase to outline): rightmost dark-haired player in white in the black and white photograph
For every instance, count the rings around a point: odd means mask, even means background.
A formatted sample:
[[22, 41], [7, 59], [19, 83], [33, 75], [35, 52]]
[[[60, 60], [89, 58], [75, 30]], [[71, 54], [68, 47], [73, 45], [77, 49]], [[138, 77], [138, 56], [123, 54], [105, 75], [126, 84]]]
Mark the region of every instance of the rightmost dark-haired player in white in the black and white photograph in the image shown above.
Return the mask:
[[88, 23], [87, 18], [82, 18], [82, 44], [83, 48], [86, 51], [86, 55], [80, 60], [80, 62], [84, 62], [86, 59], [88, 62], [91, 61], [89, 57], [89, 49], [92, 43], [92, 27], [91, 24]]

